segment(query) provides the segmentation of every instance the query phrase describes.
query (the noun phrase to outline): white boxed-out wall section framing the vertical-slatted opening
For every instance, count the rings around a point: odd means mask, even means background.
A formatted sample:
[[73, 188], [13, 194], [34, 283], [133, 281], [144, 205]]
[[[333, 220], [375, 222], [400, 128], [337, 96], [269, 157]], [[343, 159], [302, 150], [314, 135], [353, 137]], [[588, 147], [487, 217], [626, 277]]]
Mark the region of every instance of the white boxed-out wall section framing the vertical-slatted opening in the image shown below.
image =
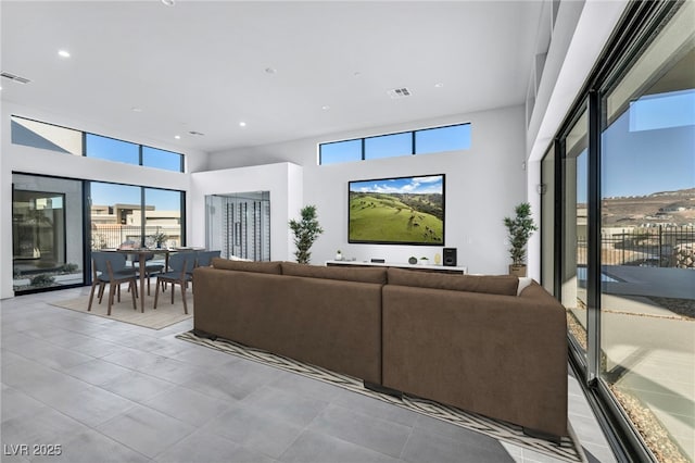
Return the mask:
[[302, 167], [287, 162], [193, 173], [190, 198], [194, 226], [189, 242], [205, 246], [205, 196], [247, 191], [270, 191], [270, 259], [293, 260], [288, 222], [296, 218], [302, 208]]

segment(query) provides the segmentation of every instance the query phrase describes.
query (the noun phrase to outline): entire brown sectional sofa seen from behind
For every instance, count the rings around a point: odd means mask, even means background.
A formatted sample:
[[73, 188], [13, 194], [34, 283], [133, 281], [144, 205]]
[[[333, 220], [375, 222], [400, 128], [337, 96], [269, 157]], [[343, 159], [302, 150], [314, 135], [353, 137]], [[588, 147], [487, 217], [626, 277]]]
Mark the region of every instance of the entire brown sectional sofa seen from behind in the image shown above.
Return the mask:
[[566, 436], [565, 310], [518, 281], [215, 259], [193, 273], [194, 329]]

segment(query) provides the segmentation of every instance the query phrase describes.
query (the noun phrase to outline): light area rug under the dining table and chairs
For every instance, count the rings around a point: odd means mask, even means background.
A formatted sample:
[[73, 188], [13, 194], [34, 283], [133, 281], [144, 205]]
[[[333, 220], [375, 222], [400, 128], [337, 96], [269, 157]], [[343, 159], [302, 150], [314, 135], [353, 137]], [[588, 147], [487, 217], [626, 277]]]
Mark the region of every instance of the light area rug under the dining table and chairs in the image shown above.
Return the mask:
[[168, 291], [166, 291], [164, 295], [160, 293], [156, 309], [153, 309], [154, 292], [152, 293], [152, 296], [144, 295], [144, 312], [140, 312], [140, 299], [137, 300], [138, 309], [132, 310], [132, 299], [127, 291], [123, 290], [121, 293], [121, 302], [114, 302], [114, 304], [111, 306], [111, 315], [106, 315], [106, 312], [109, 310], [109, 305], [106, 303], [108, 297], [109, 295], [104, 295], [104, 298], [100, 304], [99, 299], [94, 295], [94, 301], [91, 305], [90, 312], [87, 312], [87, 306], [89, 305], [89, 295], [81, 296], [75, 299], [51, 302], [51, 305], [70, 309], [90, 315], [103, 316], [104, 318], [115, 320], [123, 323], [130, 323], [132, 325], [144, 326], [146, 328], [152, 329], [162, 329], [193, 316], [193, 297], [190, 292], [186, 297], [188, 314], [184, 313], [184, 303], [181, 302], [180, 291], [176, 291], [173, 304], [172, 296]]

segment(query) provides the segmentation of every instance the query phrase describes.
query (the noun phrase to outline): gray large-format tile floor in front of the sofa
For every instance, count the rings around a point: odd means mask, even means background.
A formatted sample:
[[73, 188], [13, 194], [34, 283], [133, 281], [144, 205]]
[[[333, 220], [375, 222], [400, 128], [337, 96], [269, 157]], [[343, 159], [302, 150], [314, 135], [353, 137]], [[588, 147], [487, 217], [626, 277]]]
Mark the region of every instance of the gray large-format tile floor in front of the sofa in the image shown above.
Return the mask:
[[[192, 320], [152, 330], [48, 303], [86, 292], [0, 302], [2, 462], [554, 461], [176, 339]], [[615, 461], [569, 379], [570, 422], [589, 461]], [[56, 445], [58, 456], [34, 454]]]

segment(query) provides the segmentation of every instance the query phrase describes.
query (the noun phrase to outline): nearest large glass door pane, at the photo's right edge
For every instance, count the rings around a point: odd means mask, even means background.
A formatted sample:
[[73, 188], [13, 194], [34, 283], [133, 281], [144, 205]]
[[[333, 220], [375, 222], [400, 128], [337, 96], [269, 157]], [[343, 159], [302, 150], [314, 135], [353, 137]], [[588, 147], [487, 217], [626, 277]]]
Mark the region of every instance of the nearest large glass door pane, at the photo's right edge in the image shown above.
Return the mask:
[[601, 378], [659, 461], [695, 460], [695, 3], [605, 92]]

